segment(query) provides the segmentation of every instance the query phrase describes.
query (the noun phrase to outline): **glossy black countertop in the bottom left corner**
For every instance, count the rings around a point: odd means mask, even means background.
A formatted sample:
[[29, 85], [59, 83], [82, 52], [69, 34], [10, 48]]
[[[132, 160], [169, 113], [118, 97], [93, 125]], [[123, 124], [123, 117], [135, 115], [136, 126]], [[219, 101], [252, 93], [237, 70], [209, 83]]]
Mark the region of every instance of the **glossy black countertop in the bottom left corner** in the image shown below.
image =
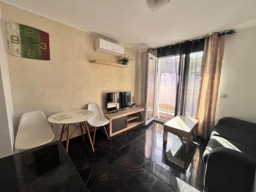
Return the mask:
[[0, 191], [88, 191], [60, 141], [0, 159]]

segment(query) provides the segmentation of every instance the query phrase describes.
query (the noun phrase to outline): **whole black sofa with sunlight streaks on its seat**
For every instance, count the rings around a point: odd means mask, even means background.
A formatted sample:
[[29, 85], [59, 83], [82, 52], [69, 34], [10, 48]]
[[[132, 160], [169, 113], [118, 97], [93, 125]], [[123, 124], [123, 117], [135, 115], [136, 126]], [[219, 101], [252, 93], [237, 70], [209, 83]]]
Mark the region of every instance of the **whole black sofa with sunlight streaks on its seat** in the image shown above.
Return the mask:
[[256, 169], [256, 123], [224, 117], [203, 154], [209, 192], [251, 192]]

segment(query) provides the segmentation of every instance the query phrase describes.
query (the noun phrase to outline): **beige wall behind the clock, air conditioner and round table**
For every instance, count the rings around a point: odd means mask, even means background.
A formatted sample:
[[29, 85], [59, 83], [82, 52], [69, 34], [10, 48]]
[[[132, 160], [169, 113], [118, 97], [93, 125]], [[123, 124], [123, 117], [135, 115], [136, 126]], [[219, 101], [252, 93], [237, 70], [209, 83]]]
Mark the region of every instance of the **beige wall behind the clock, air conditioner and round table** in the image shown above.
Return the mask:
[[[129, 69], [95, 65], [89, 60], [116, 62], [118, 59], [94, 51], [96, 36], [5, 3], [1, 5], [4, 21], [28, 25], [50, 34], [50, 61], [8, 55], [17, 123], [28, 111], [43, 111], [50, 116], [65, 110], [86, 109], [90, 102], [99, 103], [105, 110], [106, 92], [131, 91], [140, 102], [138, 51], [125, 47], [126, 56], [134, 59]], [[53, 130], [58, 137], [55, 126]]]

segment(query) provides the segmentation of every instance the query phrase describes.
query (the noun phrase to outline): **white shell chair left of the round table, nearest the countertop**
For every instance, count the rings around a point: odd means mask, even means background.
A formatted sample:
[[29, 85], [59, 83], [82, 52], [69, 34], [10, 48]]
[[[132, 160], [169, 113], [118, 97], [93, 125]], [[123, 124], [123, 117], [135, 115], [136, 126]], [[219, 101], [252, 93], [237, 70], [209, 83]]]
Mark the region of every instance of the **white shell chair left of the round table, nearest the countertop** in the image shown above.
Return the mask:
[[22, 115], [14, 146], [17, 150], [29, 150], [53, 139], [54, 133], [45, 114], [41, 111], [32, 111]]

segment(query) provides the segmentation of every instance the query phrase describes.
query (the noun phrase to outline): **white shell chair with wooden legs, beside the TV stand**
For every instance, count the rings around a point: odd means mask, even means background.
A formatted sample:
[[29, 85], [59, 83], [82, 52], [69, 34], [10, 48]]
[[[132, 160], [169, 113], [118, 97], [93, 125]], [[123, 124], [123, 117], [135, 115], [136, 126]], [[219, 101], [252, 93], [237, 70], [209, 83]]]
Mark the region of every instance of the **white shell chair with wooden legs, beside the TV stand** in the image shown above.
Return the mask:
[[[103, 129], [106, 133], [106, 129], [105, 129], [104, 125], [108, 124], [110, 121], [109, 121], [109, 119], [104, 117], [104, 115], [100, 109], [100, 106], [97, 103], [89, 103], [88, 110], [94, 111], [96, 113], [96, 116], [94, 118], [87, 121], [89, 123], [89, 125], [94, 127], [94, 135], [93, 135], [93, 144], [94, 144], [96, 127], [103, 126]], [[108, 137], [108, 139], [110, 139], [108, 136], [108, 133], [106, 133], [106, 136]]]

